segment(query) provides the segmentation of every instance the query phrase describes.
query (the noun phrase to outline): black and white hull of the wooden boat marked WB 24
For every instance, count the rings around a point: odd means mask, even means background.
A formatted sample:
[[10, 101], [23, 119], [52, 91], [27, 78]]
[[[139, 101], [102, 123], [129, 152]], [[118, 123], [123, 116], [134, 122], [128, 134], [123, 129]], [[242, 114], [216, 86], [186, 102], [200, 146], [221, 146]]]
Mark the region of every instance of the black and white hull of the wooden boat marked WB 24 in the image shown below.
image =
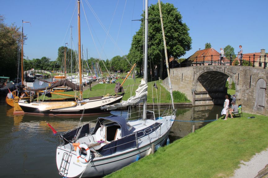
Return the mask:
[[[99, 113], [109, 112], [107, 110], [101, 109], [102, 106], [107, 104], [115, 104], [119, 103], [123, 98], [123, 94], [117, 96], [109, 96], [103, 97], [102, 99], [96, 100], [82, 100], [81, 102], [77, 102], [75, 106], [70, 107], [62, 107], [62, 104], [70, 101], [59, 101], [58, 108], [52, 108], [47, 110], [42, 110], [41, 102], [31, 102], [28, 103], [26, 100], [20, 100], [19, 105], [25, 113], [29, 114], [40, 114], [40, 115], [57, 115], [57, 116], [67, 116], [67, 115], [92, 115]], [[52, 103], [53, 101], [51, 101]], [[50, 103], [50, 102], [43, 102]], [[55, 104], [55, 102], [53, 102]]]

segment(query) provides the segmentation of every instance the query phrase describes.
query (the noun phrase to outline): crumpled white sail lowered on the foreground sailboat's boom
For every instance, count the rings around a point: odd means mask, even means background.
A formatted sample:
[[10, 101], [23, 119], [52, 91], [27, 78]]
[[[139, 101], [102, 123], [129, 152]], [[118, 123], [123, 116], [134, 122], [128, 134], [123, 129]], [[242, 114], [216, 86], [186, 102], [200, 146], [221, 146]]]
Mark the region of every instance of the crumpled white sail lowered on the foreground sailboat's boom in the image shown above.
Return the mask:
[[113, 110], [121, 107], [126, 107], [142, 102], [143, 99], [147, 97], [147, 88], [148, 85], [145, 83], [144, 79], [141, 79], [141, 84], [138, 89], [135, 91], [136, 95], [130, 97], [127, 101], [121, 101], [121, 103], [115, 103], [112, 105], [106, 105], [103, 108], [107, 110]]

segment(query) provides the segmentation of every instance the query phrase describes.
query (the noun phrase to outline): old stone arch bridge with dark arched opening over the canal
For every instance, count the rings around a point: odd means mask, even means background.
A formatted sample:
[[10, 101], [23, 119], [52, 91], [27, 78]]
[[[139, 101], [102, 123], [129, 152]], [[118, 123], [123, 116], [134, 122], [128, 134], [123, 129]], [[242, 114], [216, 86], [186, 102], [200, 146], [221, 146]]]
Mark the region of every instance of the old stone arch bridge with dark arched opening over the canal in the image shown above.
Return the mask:
[[[243, 111], [268, 116], [268, 70], [251, 66], [190, 66], [170, 70], [173, 91], [185, 93], [195, 105], [223, 104], [227, 78], [235, 84]], [[163, 80], [168, 87], [168, 79]]]

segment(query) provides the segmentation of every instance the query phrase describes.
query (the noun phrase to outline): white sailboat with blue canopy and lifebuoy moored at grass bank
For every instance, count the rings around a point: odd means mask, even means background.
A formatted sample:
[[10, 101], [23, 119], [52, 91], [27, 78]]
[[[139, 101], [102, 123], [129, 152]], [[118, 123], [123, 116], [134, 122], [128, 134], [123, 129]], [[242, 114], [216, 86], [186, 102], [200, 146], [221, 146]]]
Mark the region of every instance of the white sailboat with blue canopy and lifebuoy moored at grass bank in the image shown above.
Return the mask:
[[[78, 0], [78, 9], [79, 4]], [[158, 147], [166, 143], [176, 117], [176, 110], [173, 104], [171, 111], [162, 112], [160, 115], [146, 110], [147, 21], [148, 0], [145, 2], [145, 77], [133, 100], [124, 102], [132, 104], [144, 100], [143, 116], [136, 120], [116, 115], [99, 117], [94, 129], [91, 129], [92, 123], [89, 122], [60, 134], [56, 163], [61, 176], [106, 175], [150, 154], [152, 144]]]

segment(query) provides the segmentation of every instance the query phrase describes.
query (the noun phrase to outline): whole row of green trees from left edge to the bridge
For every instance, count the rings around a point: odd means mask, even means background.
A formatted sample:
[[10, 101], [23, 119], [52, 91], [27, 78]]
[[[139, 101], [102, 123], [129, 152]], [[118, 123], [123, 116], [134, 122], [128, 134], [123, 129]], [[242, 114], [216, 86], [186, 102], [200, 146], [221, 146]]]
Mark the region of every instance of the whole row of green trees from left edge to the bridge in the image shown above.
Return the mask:
[[[189, 28], [185, 23], [182, 22], [182, 16], [177, 8], [170, 3], [162, 3], [162, 15], [163, 15], [163, 25], [165, 28], [165, 37], [167, 43], [168, 58], [174, 57], [179, 58], [185, 55], [186, 51], [191, 49], [192, 39], [189, 35]], [[152, 78], [154, 78], [154, 72], [163, 76], [165, 69], [165, 55], [163, 46], [163, 37], [161, 23], [159, 19], [159, 5], [153, 4], [149, 7], [149, 42], [148, 42], [148, 59], [149, 59], [149, 70], [151, 70]], [[4, 18], [0, 16], [0, 62], [1, 69], [0, 75], [8, 75], [13, 77], [17, 74], [18, 61], [18, 49], [21, 48], [21, 32], [20, 28], [15, 25], [7, 26], [3, 23]], [[141, 14], [141, 22], [144, 22], [144, 14]], [[89, 58], [83, 55], [83, 70], [89, 71], [93, 70], [94, 65], [98, 63], [100, 70], [103, 73], [109, 72], [127, 72], [131, 68], [131, 64], [136, 63], [140, 71], [143, 69], [143, 29], [144, 23], [141, 23], [140, 29], [133, 36], [131, 48], [126, 56], [115, 56], [111, 60], [106, 59], [106, 61]], [[24, 37], [26, 40], [26, 37]], [[51, 61], [48, 57], [42, 57], [41, 59], [28, 59], [24, 60], [25, 68], [24, 70], [29, 70], [31, 68], [37, 70], [61, 70], [64, 71], [65, 65], [65, 53], [66, 53], [66, 69], [67, 72], [77, 71], [77, 51], [69, 49], [68, 47], [61, 46], [58, 49], [58, 57], [56, 61]], [[72, 57], [71, 57], [72, 56]], [[128, 60], [126, 60], [126, 58]], [[128, 62], [130, 61], [130, 62]], [[131, 63], [131, 64], [130, 64]], [[94, 64], [94, 65], [93, 65]], [[6, 66], [12, 66], [12, 68], [7, 68]], [[137, 69], [136, 69], [137, 70]], [[15, 77], [15, 76], [14, 76]], [[158, 76], [157, 76], [158, 77]]]

